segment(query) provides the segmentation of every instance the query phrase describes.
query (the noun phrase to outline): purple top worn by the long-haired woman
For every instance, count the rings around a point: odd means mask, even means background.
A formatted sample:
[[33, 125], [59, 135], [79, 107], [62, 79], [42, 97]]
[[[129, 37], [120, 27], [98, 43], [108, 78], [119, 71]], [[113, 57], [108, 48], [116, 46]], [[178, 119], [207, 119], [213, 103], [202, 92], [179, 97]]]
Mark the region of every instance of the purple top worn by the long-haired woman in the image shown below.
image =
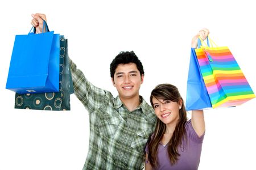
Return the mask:
[[[185, 131], [187, 133], [187, 142], [184, 140], [179, 146], [179, 160], [174, 165], [171, 165], [170, 159], [168, 158], [167, 147], [159, 143], [158, 148], [158, 163], [159, 166], [155, 169], [184, 169], [184, 170], [195, 170], [199, 167], [200, 155], [202, 150], [202, 144], [204, 134], [199, 137], [196, 131], [193, 129], [191, 120], [185, 124]], [[145, 148], [148, 154], [148, 145]]]

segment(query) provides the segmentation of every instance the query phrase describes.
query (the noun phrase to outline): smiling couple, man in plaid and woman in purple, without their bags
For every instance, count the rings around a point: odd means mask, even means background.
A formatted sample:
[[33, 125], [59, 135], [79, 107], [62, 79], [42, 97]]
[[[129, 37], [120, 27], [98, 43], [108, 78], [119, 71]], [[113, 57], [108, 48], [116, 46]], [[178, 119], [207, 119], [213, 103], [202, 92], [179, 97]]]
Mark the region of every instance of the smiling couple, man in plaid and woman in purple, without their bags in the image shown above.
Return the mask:
[[[36, 32], [43, 29], [44, 14], [32, 14]], [[208, 29], [192, 39], [197, 47]], [[75, 95], [89, 112], [89, 150], [83, 169], [197, 169], [204, 138], [203, 111], [187, 120], [184, 101], [171, 84], [152, 90], [151, 106], [139, 95], [143, 65], [134, 52], [119, 53], [110, 64], [118, 96], [93, 86], [69, 60]]]

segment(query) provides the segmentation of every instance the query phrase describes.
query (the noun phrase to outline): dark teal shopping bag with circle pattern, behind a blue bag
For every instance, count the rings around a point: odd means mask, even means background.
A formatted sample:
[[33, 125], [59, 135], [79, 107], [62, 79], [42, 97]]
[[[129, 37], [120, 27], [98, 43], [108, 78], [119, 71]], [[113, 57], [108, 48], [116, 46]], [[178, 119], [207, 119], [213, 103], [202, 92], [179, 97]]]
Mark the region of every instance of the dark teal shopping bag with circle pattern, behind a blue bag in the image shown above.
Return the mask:
[[68, 42], [60, 36], [59, 92], [15, 95], [15, 108], [50, 111], [70, 111], [70, 94], [73, 82], [69, 70]]

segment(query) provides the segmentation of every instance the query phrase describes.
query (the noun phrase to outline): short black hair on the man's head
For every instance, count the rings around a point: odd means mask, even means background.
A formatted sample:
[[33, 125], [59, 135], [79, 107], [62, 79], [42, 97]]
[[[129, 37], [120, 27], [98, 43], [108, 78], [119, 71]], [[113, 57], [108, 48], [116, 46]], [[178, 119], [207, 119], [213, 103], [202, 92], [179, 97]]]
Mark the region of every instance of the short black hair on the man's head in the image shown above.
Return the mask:
[[115, 69], [119, 64], [135, 63], [141, 76], [144, 74], [143, 66], [136, 54], [131, 52], [120, 52], [110, 64], [110, 76], [114, 79]]

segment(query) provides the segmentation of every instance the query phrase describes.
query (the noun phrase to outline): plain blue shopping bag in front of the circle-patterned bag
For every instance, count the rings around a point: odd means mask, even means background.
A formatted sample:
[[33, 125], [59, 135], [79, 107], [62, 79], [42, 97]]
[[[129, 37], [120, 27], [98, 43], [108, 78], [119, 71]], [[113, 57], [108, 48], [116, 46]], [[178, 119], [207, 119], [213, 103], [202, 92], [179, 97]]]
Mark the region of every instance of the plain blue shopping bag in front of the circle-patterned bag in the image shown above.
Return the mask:
[[[16, 35], [6, 88], [18, 94], [59, 91], [60, 35], [54, 31]], [[31, 29], [32, 30], [32, 29]]]

